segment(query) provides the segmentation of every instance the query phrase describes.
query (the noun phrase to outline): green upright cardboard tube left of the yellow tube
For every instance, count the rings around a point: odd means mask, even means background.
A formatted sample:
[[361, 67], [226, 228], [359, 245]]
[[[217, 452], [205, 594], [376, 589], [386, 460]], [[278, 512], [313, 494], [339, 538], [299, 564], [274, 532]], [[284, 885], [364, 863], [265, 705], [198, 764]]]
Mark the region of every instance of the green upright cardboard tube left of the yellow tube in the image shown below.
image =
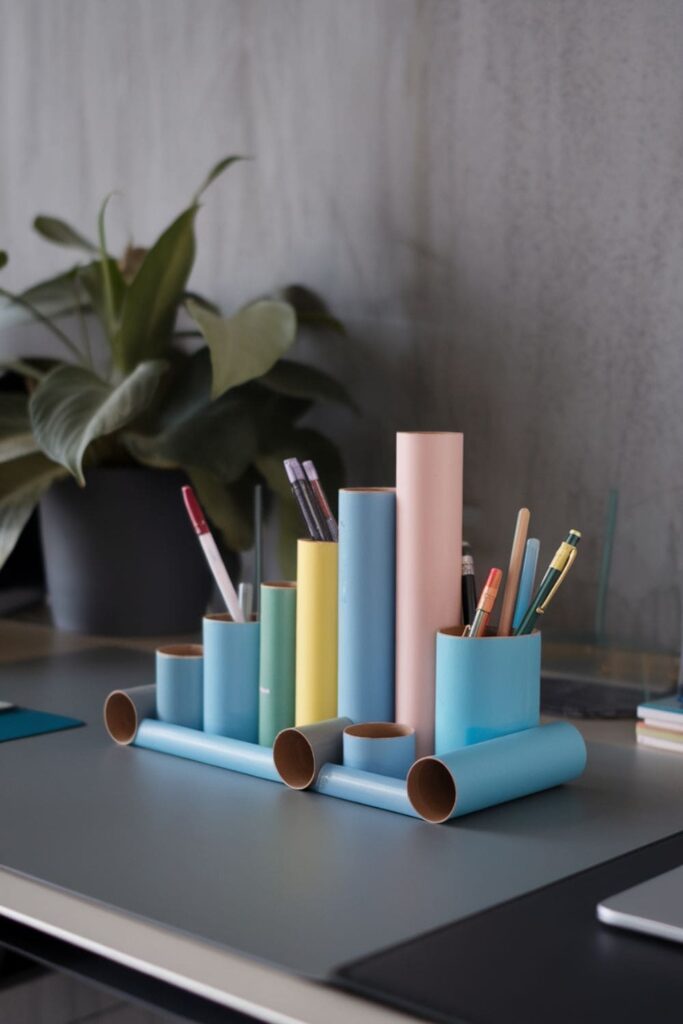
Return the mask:
[[261, 584], [258, 741], [272, 746], [294, 725], [296, 680], [296, 584]]

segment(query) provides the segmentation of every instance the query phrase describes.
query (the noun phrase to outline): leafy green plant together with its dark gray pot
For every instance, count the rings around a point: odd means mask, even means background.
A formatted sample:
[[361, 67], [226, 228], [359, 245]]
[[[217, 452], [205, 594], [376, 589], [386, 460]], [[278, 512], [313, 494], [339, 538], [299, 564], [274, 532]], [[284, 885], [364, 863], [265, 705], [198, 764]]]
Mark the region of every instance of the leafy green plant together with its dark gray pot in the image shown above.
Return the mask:
[[5, 322], [37, 321], [59, 351], [0, 364], [27, 384], [0, 393], [0, 565], [40, 503], [61, 628], [197, 628], [210, 581], [179, 497], [187, 478], [231, 552], [252, 544], [254, 485], [265, 483], [280, 506], [288, 571], [298, 524], [282, 459], [312, 458], [331, 490], [340, 481], [335, 446], [300, 420], [315, 402], [348, 396], [322, 371], [285, 358], [301, 328], [343, 332], [340, 323], [301, 286], [229, 316], [187, 287], [200, 199], [239, 159], [220, 161], [155, 244], [129, 247], [121, 260], [106, 246], [109, 197], [96, 242], [37, 217], [45, 239], [85, 258], [22, 294], [0, 288]]

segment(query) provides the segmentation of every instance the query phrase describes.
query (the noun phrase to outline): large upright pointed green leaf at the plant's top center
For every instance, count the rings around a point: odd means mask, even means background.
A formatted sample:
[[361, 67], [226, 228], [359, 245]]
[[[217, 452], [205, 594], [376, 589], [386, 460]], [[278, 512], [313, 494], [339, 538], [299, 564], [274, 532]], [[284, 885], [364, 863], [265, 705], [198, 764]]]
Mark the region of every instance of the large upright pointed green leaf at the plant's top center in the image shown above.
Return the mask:
[[195, 217], [190, 206], [146, 253], [128, 286], [121, 326], [113, 338], [114, 360], [127, 372], [143, 359], [167, 353], [178, 305], [195, 262]]

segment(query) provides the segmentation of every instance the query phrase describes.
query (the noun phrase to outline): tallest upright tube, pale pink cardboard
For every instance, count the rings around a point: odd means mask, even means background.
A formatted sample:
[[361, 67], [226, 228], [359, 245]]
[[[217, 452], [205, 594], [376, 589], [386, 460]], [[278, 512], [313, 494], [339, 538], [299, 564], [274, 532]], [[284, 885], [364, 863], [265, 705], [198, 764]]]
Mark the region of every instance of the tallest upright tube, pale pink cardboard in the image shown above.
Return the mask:
[[434, 752], [436, 631], [460, 623], [463, 435], [396, 434], [396, 721]]

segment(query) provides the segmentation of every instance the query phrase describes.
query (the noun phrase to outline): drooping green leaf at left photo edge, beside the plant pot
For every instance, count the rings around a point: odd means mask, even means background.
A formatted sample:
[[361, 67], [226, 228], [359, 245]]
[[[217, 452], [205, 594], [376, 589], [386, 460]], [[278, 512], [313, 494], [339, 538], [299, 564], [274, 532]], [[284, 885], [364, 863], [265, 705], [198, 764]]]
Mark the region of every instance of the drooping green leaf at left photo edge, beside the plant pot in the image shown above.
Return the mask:
[[66, 475], [60, 466], [41, 454], [0, 465], [0, 566], [11, 554], [44, 493]]

